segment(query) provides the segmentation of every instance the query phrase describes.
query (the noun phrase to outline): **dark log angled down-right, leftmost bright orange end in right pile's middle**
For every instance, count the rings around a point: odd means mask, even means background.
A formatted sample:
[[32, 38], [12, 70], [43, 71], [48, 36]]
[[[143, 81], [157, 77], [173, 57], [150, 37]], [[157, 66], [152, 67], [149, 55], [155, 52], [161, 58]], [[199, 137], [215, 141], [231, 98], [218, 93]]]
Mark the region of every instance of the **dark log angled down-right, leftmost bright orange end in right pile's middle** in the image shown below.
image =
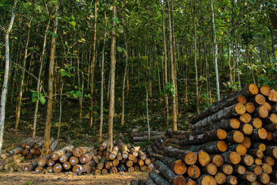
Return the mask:
[[181, 159], [185, 162], [185, 164], [193, 165], [197, 162], [197, 155], [195, 153], [190, 152], [188, 150], [179, 150], [177, 148], [172, 148], [168, 146], [164, 152], [166, 155], [170, 157], [174, 157], [175, 159]]

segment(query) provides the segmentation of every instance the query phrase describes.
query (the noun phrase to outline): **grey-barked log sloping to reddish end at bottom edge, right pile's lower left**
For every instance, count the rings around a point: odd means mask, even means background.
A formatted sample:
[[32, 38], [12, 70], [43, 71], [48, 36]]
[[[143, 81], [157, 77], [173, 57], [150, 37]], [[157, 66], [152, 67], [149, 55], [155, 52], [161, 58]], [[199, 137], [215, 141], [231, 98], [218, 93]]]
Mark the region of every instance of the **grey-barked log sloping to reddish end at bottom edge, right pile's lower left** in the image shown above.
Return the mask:
[[168, 168], [168, 166], [163, 164], [163, 162], [157, 160], [154, 164], [163, 177], [166, 177], [171, 184], [186, 184], [186, 178], [184, 176], [177, 175], [170, 168]]

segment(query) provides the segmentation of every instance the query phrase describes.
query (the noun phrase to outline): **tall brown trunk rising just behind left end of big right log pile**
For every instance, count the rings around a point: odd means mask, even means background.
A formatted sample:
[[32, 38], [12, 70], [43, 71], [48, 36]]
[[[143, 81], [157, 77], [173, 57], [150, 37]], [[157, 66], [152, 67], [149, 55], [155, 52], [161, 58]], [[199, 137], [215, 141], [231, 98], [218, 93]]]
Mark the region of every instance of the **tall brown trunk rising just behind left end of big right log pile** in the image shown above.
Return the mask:
[[[169, 25], [169, 42], [170, 42], [170, 64], [171, 64], [171, 80], [173, 87], [175, 87], [175, 64], [174, 64], [174, 52], [173, 52], [173, 43], [172, 43], [172, 17], [171, 17], [171, 6], [172, 1], [168, 0], [168, 25]], [[176, 96], [172, 96], [172, 122], [173, 130], [177, 130], [177, 112], [176, 112]]]

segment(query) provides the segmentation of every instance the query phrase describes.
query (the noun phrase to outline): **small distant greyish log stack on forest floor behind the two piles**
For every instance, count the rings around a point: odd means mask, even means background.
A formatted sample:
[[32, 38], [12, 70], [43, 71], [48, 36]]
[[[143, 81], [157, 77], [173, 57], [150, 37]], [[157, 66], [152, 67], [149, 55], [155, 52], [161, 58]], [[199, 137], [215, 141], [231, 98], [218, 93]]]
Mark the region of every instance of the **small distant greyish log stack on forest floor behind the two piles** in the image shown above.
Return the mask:
[[156, 136], [162, 136], [166, 134], [164, 131], [151, 131], [148, 132], [132, 132], [131, 137], [134, 142], [148, 141], [148, 135], [150, 134], [150, 140], [154, 141]]

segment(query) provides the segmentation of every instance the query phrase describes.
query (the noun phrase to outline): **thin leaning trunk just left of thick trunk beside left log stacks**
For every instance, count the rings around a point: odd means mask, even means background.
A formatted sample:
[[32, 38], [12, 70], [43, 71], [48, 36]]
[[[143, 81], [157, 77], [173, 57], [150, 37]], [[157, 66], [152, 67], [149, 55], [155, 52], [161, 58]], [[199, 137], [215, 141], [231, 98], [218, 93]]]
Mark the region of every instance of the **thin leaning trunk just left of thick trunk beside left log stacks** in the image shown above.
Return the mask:
[[44, 35], [44, 43], [42, 46], [42, 55], [39, 58], [39, 76], [37, 78], [37, 100], [35, 102], [35, 116], [34, 116], [34, 123], [33, 123], [33, 138], [35, 138], [35, 132], [37, 127], [37, 110], [39, 109], [39, 87], [40, 87], [40, 78], [42, 78], [42, 67], [43, 67], [43, 59], [44, 59], [44, 53], [46, 48], [46, 39], [47, 39], [47, 31], [50, 25], [50, 21], [48, 21], [46, 29], [45, 29], [45, 35]]

